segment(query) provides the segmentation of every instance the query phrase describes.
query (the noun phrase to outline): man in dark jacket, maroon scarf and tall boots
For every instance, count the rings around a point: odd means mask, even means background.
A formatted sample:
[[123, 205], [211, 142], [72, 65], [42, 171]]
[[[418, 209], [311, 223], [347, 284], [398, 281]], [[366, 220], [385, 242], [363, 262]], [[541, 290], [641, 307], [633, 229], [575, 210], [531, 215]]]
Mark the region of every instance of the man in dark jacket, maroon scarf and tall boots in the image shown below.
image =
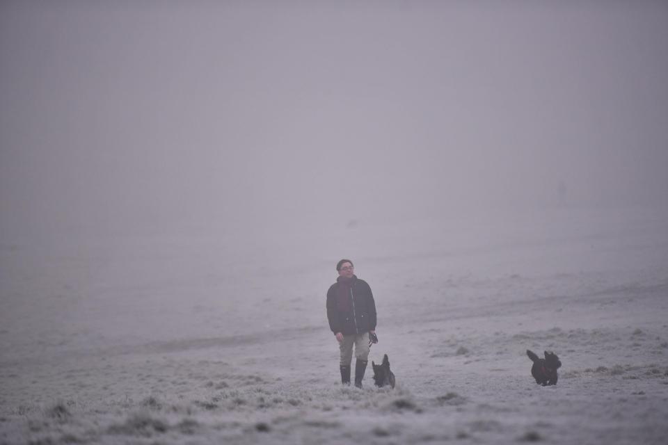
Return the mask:
[[369, 357], [369, 332], [376, 334], [376, 303], [369, 284], [353, 274], [353, 262], [336, 264], [339, 277], [327, 291], [329, 327], [341, 350], [341, 382], [350, 385], [350, 365], [355, 346], [355, 386], [362, 387]]

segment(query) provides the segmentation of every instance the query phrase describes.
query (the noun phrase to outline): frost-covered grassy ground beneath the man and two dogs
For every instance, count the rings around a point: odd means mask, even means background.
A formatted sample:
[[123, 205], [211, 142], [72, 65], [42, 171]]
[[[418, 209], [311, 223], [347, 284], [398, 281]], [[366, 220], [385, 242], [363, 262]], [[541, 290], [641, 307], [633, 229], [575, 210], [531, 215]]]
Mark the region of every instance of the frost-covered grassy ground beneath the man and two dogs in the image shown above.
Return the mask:
[[[665, 443], [664, 211], [342, 226], [4, 242], [0, 443]], [[340, 257], [394, 390], [370, 366], [338, 383]], [[527, 348], [559, 355], [558, 385]]]

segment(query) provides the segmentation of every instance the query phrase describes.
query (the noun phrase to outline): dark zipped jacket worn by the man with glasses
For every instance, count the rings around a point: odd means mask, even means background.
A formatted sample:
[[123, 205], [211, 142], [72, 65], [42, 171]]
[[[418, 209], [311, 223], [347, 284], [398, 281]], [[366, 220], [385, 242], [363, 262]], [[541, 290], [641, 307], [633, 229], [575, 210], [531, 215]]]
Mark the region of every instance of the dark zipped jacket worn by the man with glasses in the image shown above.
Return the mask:
[[327, 318], [329, 328], [335, 334], [364, 334], [376, 330], [376, 303], [371, 287], [364, 280], [353, 275], [350, 288], [351, 310], [342, 311], [337, 305], [340, 282], [332, 284], [327, 291]]

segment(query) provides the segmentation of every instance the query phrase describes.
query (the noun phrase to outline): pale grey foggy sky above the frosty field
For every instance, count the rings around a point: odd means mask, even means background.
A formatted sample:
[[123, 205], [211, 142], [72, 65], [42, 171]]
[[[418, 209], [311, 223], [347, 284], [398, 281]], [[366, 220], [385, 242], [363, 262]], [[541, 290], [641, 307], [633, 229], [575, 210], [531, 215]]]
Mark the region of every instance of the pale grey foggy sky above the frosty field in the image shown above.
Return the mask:
[[664, 2], [217, 3], [0, 3], [3, 243], [667, 204]]

